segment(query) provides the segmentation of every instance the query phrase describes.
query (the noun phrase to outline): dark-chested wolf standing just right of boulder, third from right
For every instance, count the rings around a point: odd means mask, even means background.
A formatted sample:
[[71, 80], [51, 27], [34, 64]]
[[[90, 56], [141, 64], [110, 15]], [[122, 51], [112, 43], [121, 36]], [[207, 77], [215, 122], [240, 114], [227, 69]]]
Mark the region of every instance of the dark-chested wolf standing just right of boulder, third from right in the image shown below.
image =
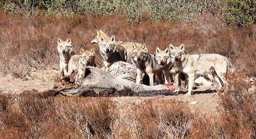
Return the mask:
[[133, 43], [131, 58], [137, 67], [137, 84], [139, 84], [142, 79], [142, 73], [149, 75], [150, 86], [154, 85], [155, 74], [159, 78], [160, 84], [163, 84], [162, 68], [160, 64], [157, 63], [154, 55], [149, 54], [145, 43], [143, 43], [142, 46], [137, 46], [135, 43]]

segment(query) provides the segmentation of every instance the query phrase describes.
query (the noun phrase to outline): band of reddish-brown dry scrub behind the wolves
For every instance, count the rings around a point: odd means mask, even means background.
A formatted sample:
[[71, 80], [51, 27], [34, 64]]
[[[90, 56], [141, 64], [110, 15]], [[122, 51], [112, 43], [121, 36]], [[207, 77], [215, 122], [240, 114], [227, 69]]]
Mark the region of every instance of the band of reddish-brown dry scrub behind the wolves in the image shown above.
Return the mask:
[[30, 20], [0, 15], [0, 70], [20, 78], [29, 75], [31, 68], [58, 69], [57, 38], [71, 37], [75, 52], [80, 47], [96, 49], [96, 63], [102, 66], [98, 46], [90, 44], [101, 29], [116, 40], [146, 42], [149, 53], [155, 53], [170, 43], [185, 44], [190, 54], [218, 53], [247, 76], [256, 76], [256, 26], [226, 29], [218, 16], [200, 15], [192, 22], [150, 22], [130, 25], [124, 17], [90, 16], [36, 17]]

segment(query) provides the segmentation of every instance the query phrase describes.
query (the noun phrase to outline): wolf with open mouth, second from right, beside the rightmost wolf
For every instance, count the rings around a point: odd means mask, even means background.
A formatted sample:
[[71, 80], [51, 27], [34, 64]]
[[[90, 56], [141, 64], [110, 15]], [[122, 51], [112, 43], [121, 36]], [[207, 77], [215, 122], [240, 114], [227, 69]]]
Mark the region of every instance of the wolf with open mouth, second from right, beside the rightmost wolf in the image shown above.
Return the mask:
[[179, 77], [179, 70], [176, 66], [174, 59], [170, 56], [169, 47], [167, 47], [164, 51], [161, 51], [161, 49], [157, 47], [155, 57], [158, 64], [160, 64], [160, 66], [162, 67], [167, 82], [174, 82], [173, 75], [175, 75], [175, 83], [178, 83], [180, 86], [181, 81]]

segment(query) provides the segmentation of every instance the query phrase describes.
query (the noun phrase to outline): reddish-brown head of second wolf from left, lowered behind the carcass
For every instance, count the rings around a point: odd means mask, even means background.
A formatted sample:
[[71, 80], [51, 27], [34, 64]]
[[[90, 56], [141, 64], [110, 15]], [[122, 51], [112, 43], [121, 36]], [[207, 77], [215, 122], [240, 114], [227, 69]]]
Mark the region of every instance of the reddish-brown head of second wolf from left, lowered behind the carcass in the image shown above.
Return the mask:
[[85, 49], [80, 49], [80, 63], [86, 66], [93, 66], [95, 63], [95, 51], [90, 49], [90, 51], [85, 51]]

